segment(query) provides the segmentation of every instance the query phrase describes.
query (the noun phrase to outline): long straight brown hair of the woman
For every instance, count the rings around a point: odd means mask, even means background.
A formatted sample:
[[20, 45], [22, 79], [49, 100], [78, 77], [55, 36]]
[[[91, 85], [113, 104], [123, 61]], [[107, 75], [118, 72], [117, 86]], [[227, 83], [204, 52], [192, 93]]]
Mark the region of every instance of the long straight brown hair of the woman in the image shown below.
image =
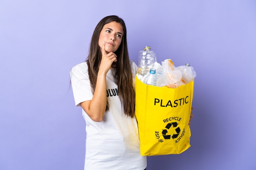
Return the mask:
[[[105, 24], [110, 22], [117, 22], [123, 26], [124, 35], [122, 37], [121, 44], [115, 54], [117, 55], [117, 62], [116, 67], [117, 69], [115, 72], [115, 83], [117, 83], [118, 87], [118, 94], [121, 100], [122, 107], [124, 109], [124, 113], [127, 116], [134, 116], [135, 113], [135, 89], [134, 89], [134, 82], [130, 65], [130, 59], [128, 55], [128, 48], [127, 48], [127, 39], [126, 39], [126, 25], [124, 20], [116, 15], [111, 15], [104, 17], [96, 26], [94, 33], [92, 35], [92, 40], [90, 44], [90, 52], [88, 55], [87, 64], [88, 64], [88, 74], [90, 78], [92, 92], [94, 93], [97, 81], [97, 74], [99, 71], [99, 65], [101, 63], [101, 49], [98, 45], [99, 43], [99, 35], [101, 30]], [[106, 111], [108, 110], [108, 102], [106, 105]]]

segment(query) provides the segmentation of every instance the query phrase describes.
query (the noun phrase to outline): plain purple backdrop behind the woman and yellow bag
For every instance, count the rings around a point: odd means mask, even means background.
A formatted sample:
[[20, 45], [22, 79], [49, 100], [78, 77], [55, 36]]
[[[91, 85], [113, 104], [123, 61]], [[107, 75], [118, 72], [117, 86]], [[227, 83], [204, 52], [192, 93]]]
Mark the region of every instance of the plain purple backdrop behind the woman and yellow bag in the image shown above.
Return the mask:
[[1, 0], [0, 169], [83, 169], [69, 72], [107, 15], [126, 22], [136, 63], [151, 46], [197, 72], [191, 148], [148, 157], [147, 170], [256, 169], [254, 0]]

